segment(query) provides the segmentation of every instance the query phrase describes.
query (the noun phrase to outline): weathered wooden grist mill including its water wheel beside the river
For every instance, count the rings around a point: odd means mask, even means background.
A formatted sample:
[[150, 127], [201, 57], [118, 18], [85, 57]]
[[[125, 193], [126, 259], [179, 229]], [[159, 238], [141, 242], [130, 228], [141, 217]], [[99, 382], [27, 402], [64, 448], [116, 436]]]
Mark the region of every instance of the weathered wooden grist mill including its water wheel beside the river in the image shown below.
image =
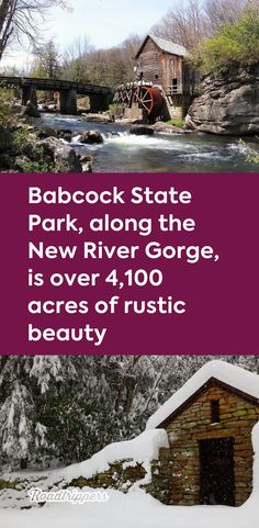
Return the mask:
[[135, 80], [116, 88], [114, 102], [124, 117], [149, 121], [183, 119], [195, 89], [188, 50], [170, 41], [147, 35], [135, 56]]

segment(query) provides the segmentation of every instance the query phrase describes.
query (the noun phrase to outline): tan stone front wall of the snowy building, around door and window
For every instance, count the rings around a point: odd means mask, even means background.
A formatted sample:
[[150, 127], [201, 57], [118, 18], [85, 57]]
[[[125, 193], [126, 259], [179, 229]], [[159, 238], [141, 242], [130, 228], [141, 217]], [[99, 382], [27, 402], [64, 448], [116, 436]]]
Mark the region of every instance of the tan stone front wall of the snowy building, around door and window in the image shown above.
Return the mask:
[[[211, 424], [211, 401], [219, 401], [221, 422]], [[235, 497], [243, 504], [251, 493], [251, 429], [259, 419], [259, 407], [218, 386], [211, 386], [167, 427], [172, 483], [169, 504], [200, 504], [199, 440], [234, 438]]]

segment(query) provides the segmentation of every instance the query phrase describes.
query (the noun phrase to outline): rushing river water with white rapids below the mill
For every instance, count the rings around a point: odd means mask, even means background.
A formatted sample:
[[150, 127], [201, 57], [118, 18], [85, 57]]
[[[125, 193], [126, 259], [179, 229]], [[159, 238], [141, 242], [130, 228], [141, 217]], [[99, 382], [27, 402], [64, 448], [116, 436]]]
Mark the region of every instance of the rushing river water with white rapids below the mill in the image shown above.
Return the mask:
[[[94, 172], [256, 172], [258, 166], [246, 161], [247, 147], [235, 137], [209, 134], [154, 134], [137, 136], [117, 123], [90, 123], [81, 117], [43, 114], [43, 126], [69, 128], [72, 133], [101, 132], [101, 145], [81, 145], [74, 137], [71, 146], [94, 158]], [[258, 142], [247, 141], [258, 148]]]

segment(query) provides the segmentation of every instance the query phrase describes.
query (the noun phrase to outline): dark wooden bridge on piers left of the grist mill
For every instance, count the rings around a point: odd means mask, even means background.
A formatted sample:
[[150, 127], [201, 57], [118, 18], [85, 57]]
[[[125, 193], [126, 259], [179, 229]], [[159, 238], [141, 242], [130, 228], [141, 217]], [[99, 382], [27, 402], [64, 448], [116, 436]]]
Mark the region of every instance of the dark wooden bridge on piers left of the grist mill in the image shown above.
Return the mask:
[[109, 87], [61, 79], [0, 76], [0, 88], [20, 88], [22, 104], [32, 101], [35, 105], [37, 90], [58, 92], [59, 109], [63, 114], [77, 114], [77, 94], [89, 97], [91, 112], [106, 110], [113, 98], [113, 90]]

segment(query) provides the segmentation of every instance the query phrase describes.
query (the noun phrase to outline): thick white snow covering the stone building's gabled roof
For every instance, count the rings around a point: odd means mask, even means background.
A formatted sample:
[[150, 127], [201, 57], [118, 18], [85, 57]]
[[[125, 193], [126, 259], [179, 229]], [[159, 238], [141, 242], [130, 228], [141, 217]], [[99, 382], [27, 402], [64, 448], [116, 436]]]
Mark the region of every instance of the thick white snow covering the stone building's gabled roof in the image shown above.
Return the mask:
[[259, 404], [259, 375], [226, 361], [209, 361], [195, 372], [147, 422], [147, 429], [164, 426], [174, 412], [188, 403], [210, 381], [225, 384], [227, 389], [238, 392], [244, 397], [255, 400]]

